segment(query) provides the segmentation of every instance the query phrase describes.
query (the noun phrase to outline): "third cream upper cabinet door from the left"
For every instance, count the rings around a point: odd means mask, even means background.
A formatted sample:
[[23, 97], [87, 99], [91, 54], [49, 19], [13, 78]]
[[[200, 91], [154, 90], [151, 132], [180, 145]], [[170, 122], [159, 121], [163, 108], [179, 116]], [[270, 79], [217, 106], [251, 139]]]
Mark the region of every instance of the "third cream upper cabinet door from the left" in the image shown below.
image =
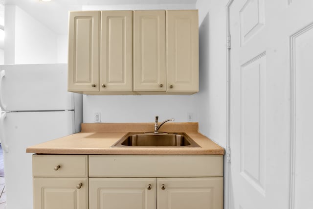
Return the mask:
[[134, 11], [134, 91], [166, 91], [165, 11]]

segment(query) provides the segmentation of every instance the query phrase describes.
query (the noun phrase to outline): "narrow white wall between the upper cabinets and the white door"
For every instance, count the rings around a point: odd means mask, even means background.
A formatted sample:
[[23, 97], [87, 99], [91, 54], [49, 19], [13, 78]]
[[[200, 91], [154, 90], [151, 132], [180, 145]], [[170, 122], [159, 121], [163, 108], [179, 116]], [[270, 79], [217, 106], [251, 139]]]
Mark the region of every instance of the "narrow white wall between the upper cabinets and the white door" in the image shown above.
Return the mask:
[[198, 0], [200, 132], [226, 146], [226, 10], [228, 0]]

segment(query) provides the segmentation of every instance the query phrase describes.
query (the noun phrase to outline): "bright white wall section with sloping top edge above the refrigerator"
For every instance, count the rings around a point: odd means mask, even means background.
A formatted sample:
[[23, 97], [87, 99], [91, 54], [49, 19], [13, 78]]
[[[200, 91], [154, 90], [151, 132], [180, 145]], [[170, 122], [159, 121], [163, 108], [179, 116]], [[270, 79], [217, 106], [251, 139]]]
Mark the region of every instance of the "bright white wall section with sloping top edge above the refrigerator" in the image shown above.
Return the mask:
[[5, 64], [57, 62], [57, 36], [15, 5], [5, 6]]

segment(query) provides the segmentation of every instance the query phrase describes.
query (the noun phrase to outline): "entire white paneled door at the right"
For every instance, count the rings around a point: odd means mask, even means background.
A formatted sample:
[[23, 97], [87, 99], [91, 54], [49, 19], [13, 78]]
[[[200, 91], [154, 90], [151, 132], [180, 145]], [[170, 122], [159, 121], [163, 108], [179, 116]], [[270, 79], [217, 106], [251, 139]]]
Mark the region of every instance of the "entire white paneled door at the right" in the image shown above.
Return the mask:
[[231, 209], [312, 208], [312, 8], [230, 6]]

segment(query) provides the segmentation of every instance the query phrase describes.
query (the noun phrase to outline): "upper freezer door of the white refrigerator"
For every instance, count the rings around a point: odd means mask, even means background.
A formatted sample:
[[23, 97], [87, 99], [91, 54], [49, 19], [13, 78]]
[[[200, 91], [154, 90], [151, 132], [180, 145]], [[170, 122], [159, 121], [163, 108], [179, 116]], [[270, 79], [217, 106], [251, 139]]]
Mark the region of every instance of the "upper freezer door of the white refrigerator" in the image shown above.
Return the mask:
[[0, 66], [2, 111], [73, 110], [67, 64]]

